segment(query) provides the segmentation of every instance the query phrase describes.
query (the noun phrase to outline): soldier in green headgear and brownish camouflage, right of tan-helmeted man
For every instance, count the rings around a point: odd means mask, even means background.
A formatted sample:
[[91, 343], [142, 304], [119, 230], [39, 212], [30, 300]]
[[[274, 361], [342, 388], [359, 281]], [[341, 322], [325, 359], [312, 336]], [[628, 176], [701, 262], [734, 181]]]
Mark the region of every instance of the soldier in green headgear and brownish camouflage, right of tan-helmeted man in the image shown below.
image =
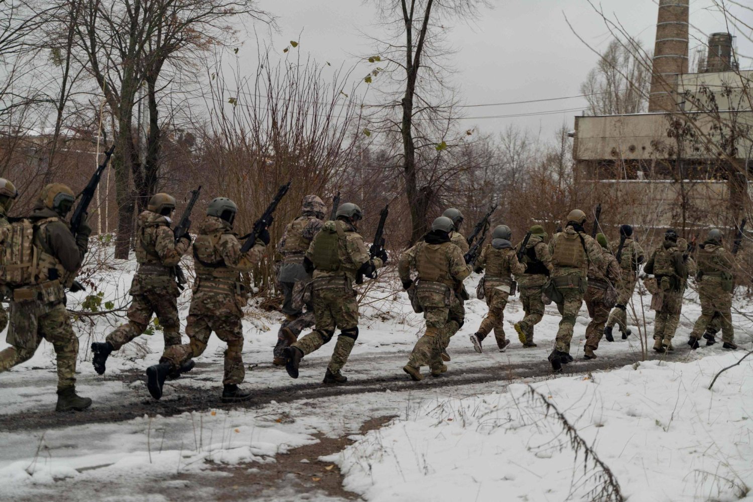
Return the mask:
[[596, 242], [602, 246], [602, 266], [597, 267], [595, 262], [588, 265], [588, 289], [584, 300], [591, 322], [586, 327], [586, 346], [583, 351], [585, 359], [596, 359], [593, 353], [599, 348], [599, 341], [604, 335], [604, 323], [609, 317], [609, 309], [617, 300], [617, 291], [614, 284], [620, 281], [620, 266], [617, 259], [609, 250], [609, 243], [603, 233], [596, 234]]

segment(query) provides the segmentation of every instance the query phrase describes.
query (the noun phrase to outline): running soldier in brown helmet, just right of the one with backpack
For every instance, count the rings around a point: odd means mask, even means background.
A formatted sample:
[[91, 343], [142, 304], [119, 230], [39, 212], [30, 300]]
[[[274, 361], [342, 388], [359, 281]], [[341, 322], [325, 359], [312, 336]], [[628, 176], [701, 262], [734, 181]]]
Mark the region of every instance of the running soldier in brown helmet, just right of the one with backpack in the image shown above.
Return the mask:
[[[136, 262], [139, 269], [131, 282], [131, 305], [128, 322], [110, 333], [105, 342], [92, 343], [92, 364], [99, 375], [105, 373], [105, 363], [112, 351], [120, 350], [149, 326], [152, 314], [163, 327], [165, 348], [181, 344], [178, 321], [178, 297], [181, 292], [175, 282], [175, 266], [191, 245], [187, 235], [175, 240], [170, 218], [175, 211], [175, 198], [167, 193], [155, 193], [145, 211], [139, 214], [136, 227]], [[185, 370], [188, 370], [187, 368]]]

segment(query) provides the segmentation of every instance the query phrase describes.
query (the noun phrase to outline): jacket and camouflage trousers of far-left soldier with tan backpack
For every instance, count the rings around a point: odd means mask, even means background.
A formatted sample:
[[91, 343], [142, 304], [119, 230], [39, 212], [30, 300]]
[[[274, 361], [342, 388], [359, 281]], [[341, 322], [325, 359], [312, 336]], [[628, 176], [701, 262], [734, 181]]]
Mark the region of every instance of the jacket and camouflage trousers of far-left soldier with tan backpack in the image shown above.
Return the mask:
[[35, 284], [10, 292], [11, 321], [6, 342], [11, 347], [0, 351], [0, 373], [28, 361], [46, 339], [55, 349], [57, 388], [62, 394], [75, 386], [78, 357], [78, 338], [66, 310], [63, 288], [81, 267], [91, 229], [82, 228], [74, 239], [66, 221], [39, 202], [29, 219], [37, 226], [34, 240], [41, 250], [40, 268]]

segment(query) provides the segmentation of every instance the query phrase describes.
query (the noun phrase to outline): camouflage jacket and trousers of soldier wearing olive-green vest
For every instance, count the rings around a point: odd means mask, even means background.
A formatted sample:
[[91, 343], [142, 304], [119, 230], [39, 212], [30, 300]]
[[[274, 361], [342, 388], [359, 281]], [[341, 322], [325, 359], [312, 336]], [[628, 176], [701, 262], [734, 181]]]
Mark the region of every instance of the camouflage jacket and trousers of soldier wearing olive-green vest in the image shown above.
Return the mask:
[[[324, 235], [325, 233], [328, 235]], [[319, 257], [314, 252], [317, 242], [322, 236], [328, 239], [334, 233], [337, 233], [337, 246], [334, 250], [337, 255], [331, 257], [336, 262], [334, 269], [316, 269], [313, 273], [312, 303], [316, 329], [291, 347], [300, 350], [303, 356], [311, 354], [329, 342], [335, 329], [339, 327], [340, 335], [337, 336], [328, 370], [333, 375], [340, 376], [340, 370], [348, 361], [355, 340], [358, 339], [358, 301], [353, 290], [356, 274], [369, 261], [375, 269], [379, 269], [383, 262], [380, 258], [372, 259], [369, 256], [364, 238], [355, 227], [346, 221], [337, 220], [327, 221], [306, 251], [306, 257], [316, 266], [319, 266]]]

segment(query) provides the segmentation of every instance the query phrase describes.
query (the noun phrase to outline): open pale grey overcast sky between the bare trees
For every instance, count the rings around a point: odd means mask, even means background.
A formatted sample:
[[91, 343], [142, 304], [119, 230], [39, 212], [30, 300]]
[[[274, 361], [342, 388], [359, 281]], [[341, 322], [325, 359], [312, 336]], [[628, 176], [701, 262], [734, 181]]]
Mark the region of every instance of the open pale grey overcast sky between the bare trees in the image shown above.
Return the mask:
[[[611, 39], [605, 23], [586, 0], [490, 0], [495, 8], [484, 10], [479, 20], [453, 28], [450, 41], [458, 50], [453, 56], [453, 76], [467, 105], [517, 102], [531, 99], [578, 96], [580, 84], [597, 56], [573, 34], [573, 28], [587, 44], [603, 50]], [[718, 0], [721, 2], [721, 0]], [[746, 3], [742, 0], [741, 3]], [[379, 36], [374, 23], [373, 2], [361, 0], [259, 0], [259, 5], [278, 17], [279, 31], [273, 46], [282, 49], [300, 38], [299, 50], [333, 65], [355, 65], [352, 54], [369, 54], [373, 49], [361, 32]], [[601, 8], [618, 19], [627, 32], [653, 50], [656, 35], [657, 2], [651, 0], [604, 0]], [[724, 32], [724, 17], [712, 0], [691, 0], [690, 55], [704, 44], [709, 33]], [[734, 8], [748, 26], [753, 11]], [[734, 31], [734, 30], [730, 30]], [[302, 35], [299, 35], [303, 32]], [[751, 32], [733, 32], [742, 56], [753, 55]], [[746, 38], [748, 37], [748, 38]], [[247, 42], [244, 51], [250, 49]], [[753, 59], [741, 58], [741, 68], [753, 67]], [[355, 71], [362, 77], [368, 70]], [[523, 105], [468, 108], [468, 128], [499, 132], [508, 124], [527, 128], [550, 138], [562, 123], [572, 127], [578, 111], [523, 117], [476, 118], [499, 115], [536, 114], [584, 107], [584, 99], [557, 99]]]

